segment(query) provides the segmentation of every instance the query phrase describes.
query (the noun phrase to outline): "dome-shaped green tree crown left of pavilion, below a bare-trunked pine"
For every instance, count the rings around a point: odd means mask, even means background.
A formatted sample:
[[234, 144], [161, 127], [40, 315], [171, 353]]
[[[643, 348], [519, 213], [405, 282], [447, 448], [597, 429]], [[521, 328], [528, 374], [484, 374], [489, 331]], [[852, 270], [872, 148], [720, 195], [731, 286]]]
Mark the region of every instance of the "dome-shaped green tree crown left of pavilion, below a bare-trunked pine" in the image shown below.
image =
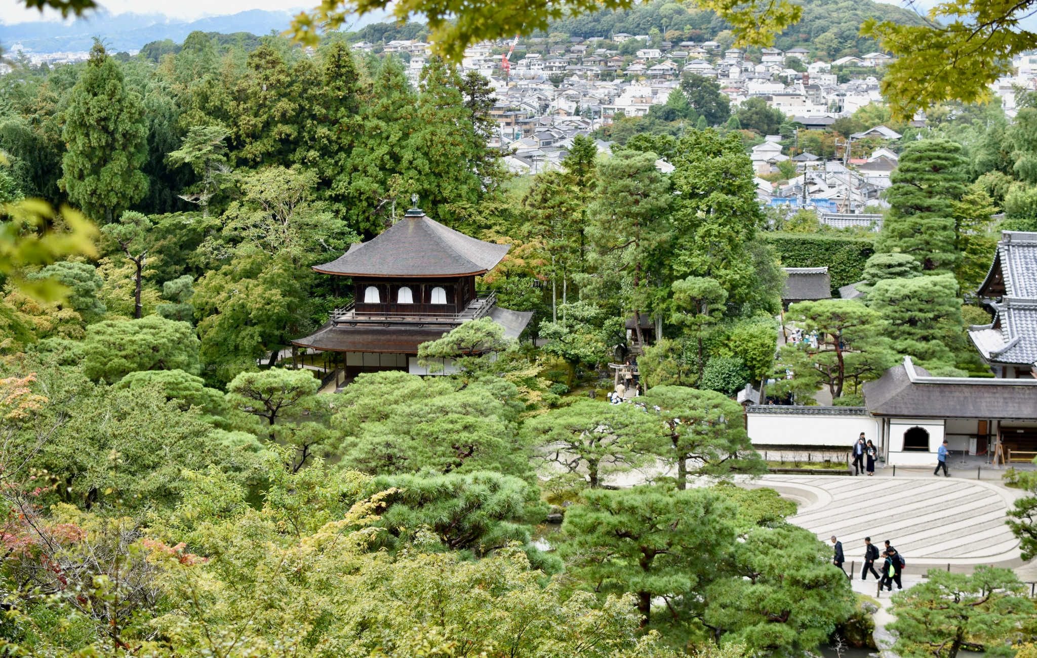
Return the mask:
[[198, 338], [187, 322], [148, 315], [139, 320], [105, 320], [86, 328], [83, 373], [115, 382], [139, 370], [200, 371]]

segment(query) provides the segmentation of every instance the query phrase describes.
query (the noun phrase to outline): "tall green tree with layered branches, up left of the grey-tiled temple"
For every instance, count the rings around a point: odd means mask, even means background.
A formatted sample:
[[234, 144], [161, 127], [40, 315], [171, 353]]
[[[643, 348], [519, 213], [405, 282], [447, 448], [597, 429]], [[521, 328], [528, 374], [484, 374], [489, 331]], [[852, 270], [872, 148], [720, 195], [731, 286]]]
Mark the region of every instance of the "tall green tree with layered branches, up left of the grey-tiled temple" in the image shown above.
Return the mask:
[[965, 192], [961, 146], [946, 139], [915, 142], [900, 154], [886, 192], [890, 213], [875, 245], [879, 252], [910, 254], [924, 270], [949, 271], [955, 249], [955, 201]]

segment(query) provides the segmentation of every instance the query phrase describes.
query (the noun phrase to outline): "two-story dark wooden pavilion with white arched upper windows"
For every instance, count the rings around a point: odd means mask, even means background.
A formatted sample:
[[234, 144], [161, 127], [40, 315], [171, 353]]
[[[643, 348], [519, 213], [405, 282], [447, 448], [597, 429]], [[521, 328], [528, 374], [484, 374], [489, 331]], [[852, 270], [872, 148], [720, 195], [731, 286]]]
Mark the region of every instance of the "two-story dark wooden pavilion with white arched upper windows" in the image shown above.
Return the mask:
[[[508, 249], [411, 208], [376, 237], [313, 267], [349, 278], [354, 302], [335, 309], [327, 324], [292, 344], [328, 352], [332, 367], [348, 381], [380, 370], [431, 374], [418, 364], [418, 345], [469, 320], [488, 316], [504, 327], [505, 337], [517, 338], [532, 312], [502, 309], [493, 292], [475, 286], [475, 278], [497, 266]], [[441, 372], [450, 372], [450, 365], [445, 366]]]

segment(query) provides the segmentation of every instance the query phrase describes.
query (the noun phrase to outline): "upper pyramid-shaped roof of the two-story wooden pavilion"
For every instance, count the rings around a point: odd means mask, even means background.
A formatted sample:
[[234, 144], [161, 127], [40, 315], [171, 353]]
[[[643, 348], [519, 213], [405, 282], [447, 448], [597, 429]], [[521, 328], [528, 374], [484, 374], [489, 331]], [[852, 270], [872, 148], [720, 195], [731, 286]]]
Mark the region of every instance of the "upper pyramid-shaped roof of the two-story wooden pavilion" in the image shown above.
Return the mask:
[[376, 237], [313, 269], [357, 277], [463, 277], [493, 269], [508, 249], [469, 237], [412, 208]]

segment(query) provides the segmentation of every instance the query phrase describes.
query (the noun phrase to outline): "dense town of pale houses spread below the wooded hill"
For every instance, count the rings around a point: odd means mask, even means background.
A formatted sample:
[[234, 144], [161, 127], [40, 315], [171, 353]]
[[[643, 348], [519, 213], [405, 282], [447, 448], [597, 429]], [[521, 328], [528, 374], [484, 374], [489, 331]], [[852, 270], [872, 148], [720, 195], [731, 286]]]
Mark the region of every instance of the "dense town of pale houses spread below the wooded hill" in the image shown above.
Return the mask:
[[[528, 46], [510, 49], [503, 42], [477, 44], [465, 51], [459, 64], [463, 71], [491, 81], [497, 131], [489, 144], [504, 151], [508, 170], [520, 175], [557, 170], [576, 136], [594, 134], [620, 117], [647, 116], [652, 107], [665, 105], [688, 76], [716, 82], [732, 112], [750, 98], [760, 98], [785, 114], [793, 131], [824, 132], [840, 117], [884, 102], [879, 81], [882, 67], [893, 59], [871, 52], [822, 61], [812, 59], [806, 48], [748, 52], [725, 49], [714, 40], [672, 42], [627, 33], [607, 39], [571, 37], [564, 44], [546, 37], [526, 41]], [[418, 39], [359, 41], [353, 47], [403, 58], [415, 86], [432, 50]], [[1017, 57], [1013, 67], [1014, 75], [992, 85], [1008, 116], [1014, 115], [1019, 90], [1037, 89], [1037, 56]], [[910, 125], [924, 128], [924, 113]], [[761, 204], [841, 214], [873, 214], [887, 206], [881, 193], [890, 185], [898, 158], [886, 145], [900, 139], [900, 133], [869, 126], [837, 143], [841, 152], [828, 158], [804, 149], [790, 154], [783, 142], [795, 142], [796, 137], [763, 135], [749, 147], [758, 174], [777, 174], [779, 163], [786, 161], [795, 166], [794, 175], [780, 182], [757, 178]], [[599, 152], [608, 153], [611, 143], [598, 140], [597, 145]], [[664, 171], [669, 167], [665, 162], [660, 166]], [[877, 230], [880, 220], [843, 218], [832, 225]]]

